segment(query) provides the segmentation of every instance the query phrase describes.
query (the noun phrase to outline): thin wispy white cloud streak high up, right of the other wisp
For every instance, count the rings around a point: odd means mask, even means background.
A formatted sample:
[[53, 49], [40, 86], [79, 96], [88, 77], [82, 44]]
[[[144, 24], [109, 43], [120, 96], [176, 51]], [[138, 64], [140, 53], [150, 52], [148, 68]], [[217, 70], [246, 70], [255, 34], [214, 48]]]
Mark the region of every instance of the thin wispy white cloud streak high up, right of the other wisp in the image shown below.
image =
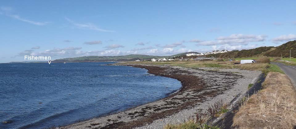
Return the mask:
[[78, 29], [90, 29], [90, 30], [97, 30], [97, 31], [103, 31], [103, 32], [115, 32], [113, 30], [101, 29], [101, 28], [97, 27], [97, 25], [94, 25], [92, 23], [83, 23], [82, 24], [82, 23], [76, 23], [69, 18], [65, 18], [65, 19]]

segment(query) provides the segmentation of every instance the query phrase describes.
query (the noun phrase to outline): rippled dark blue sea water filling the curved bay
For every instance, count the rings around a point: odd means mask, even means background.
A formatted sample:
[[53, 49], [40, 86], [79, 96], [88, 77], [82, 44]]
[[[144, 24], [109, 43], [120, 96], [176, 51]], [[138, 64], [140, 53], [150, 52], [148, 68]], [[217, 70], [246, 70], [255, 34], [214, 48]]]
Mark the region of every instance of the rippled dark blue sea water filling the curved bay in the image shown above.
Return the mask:
[[181, 87], [146, 69], [110, 63], [0, 64], [0, 128], [67, 125], [161, 99]]

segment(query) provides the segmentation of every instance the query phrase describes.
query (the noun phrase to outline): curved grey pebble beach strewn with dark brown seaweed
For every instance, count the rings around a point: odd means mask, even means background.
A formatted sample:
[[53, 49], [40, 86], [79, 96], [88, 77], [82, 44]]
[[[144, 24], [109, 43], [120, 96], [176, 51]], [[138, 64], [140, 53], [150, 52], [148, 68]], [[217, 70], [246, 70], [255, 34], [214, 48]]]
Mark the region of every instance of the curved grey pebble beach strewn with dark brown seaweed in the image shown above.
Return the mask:
[[[251, 82], [254, 83], [256, 76], [259, 76], [260, 73], [238, 69], [215, 70], [166, 65], [124, 65], [146, 68], [151, 74], [177, 79], [181, 81], [182, 87], [161, 100], [116, 114], [73, 123], [60, 127], [60, 129], [162, 128], [166, 123], [181, 123], [184, 119], [192, 117], [196, 111], [205, 110], [209, 104], [221, 98], [230, 102], [234, 96], [246, 92], [247, 85]], [[245, 85], [245, 87], [237, 87], [236, 85]]]

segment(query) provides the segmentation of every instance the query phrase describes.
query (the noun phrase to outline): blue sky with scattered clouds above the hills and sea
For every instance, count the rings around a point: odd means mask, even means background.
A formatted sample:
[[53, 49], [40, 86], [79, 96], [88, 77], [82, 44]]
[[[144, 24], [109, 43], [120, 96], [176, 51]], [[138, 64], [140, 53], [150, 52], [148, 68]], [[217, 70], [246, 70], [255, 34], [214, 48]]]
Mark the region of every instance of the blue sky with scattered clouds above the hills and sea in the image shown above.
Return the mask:
[[296, 1], [1, 1], [0, 63], [252, 49], [296, 39]]

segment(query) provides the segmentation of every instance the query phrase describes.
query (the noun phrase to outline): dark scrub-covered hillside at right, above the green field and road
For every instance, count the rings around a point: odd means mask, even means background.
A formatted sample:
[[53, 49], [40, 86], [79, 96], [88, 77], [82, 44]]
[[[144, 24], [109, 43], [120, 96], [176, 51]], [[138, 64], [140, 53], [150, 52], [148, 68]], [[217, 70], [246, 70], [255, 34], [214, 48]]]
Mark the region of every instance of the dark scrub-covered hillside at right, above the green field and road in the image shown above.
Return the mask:
[[239, 57], [258, 57], [258, 56], [268, 56], [268, 57], [296, 57], [296, 40], [289, 41], [285, 44], [282, 44], [278, 47], [258, 47], [255, 49], [240, 50], [240, 51], [231, 51], [228, 53], [217, 53], [210, 54], [206, 57], [217, 57], [217, 58], [239, 58]]

